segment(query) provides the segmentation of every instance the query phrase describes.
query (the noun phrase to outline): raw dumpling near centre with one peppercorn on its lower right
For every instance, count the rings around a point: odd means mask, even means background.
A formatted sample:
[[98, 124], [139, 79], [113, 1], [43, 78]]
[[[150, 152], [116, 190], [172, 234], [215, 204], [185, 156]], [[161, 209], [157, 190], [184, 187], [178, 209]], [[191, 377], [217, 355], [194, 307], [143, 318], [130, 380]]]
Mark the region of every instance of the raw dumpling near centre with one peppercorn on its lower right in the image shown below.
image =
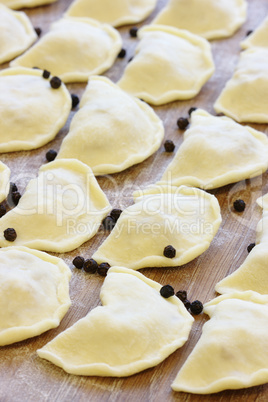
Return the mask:
[[[202, 190], [163, 187], [136, 199], [92, 258], [132, 269], [179, 266], [202, 254], [221, 223], [217, 199]], [[176, 250], [164, 256], [166, 246]]]

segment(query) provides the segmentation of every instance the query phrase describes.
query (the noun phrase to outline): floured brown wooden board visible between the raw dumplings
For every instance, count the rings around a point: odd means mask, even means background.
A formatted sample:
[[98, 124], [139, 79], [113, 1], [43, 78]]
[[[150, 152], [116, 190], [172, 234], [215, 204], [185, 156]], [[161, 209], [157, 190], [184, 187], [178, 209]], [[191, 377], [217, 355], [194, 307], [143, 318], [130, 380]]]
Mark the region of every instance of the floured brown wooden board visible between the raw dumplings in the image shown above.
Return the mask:
[[[111, 0], [112, 1], [112, 0]], [[143, 24], [150, 22], [156, 13], [166, 4], [159, 0], [157, 9]], [[42, 32], [49, 24], [62, 15], [71, 0], [58, 0], [56, 3], [32, 10], [25, 10], [35, 27]], [[162, 107], [154, 107], [165, 125], [165, 138], [172, 139], [176, 149], [182, 142], [183, 132], [177, 129], [176, 121], [187, 116], [192, 106], [198, 106], [214, 113], [213, 103], [218, 97], [227, 79], [233, 73], [237, 63], [239, 42], [246, 32], [255, 29], [268, 13], [267, 0], [248, 0], [248, 19], [244, 26], [231, 38], [213, 41], [212, 50], [216, 72], [203, 87], [200, 94], [190, 101], [173, 102]], [[202, 16], [200, 16], [202, 18]], [[127, 49], [125, 59], [117, 59], [114, 66], [105, 74], [113, 81], [121, 77], [127, 60], [133, 55], [137, 39], [130, 38], [129, 27], [119, 29]], [[6, 68], [8, 65], [3, 65]], [[163, 72], [163, 80], [165, 79]], [[82, 95], [85, 84], [68, 84], [71, 93]], [[58, 150], [63, 137], [68, 132], [70, 120], [54, 141], [46, 146], [29, 152], [15, 152], [0, 155], [12, 172], [11, 180], [21, 192], [28, 181], [37, 175], [39, 167], [46, 163], [45, 154], [50, 148]], [[267, 125], [252, 125], [268, 134]], [[106, 177], [99, 177], [98, 182], [107, 194], [113, 207], [126, 208], [133, 203], [134, 190], [145, 187], [159, 179], [174, 154], [164, 152], [163, 146], [156, 154], [143, 163], [124, 172]], [[141, 272], [161, 284], [171, 284], [176, 290], [186, 289], [189, 299], [202, 302], [215, 297], [215, 284], [233, 272], [247, 256], [248, 244], [255, 241], [255, 228], [261, 217], [261, 210], [256, 206], [256, 199], [268, 192], [268, 175], [248, 179], [211, 191], [217, 197], [222, 211], [223, 222], [209, 249], [194, 261], [179, 268], [147, 268]], [[237, 214], [232, 209], [235, 199], [245, 200], [244, 213]], [[40, 359], [36, 350], [57, 334], [84, 317], [92, 308], [100, 304], [99, 291], [103, 277], [86, 274], [73, 269], [72, 259], [76, 255], [90, 258], [107, 236], [103, 231], [71, 253], [61, 254], [72, 269], [70, 283], [72, 306], [60, 326], [38, 337], [2, 347], [0, 350], [0, 401], [267, 401], [268, 385], [236, 391], [224, 391], [214, 395], [191, 395], [173, 392], [170, 385], [187, 356], [200, 337], [205, 314], [196, 316], [188, 342], [169, 356], [158, 366], [126, 378], [82, 377], [65, 373], [52, 363]], [[108, 341], [108, 340], [107, 340]]]

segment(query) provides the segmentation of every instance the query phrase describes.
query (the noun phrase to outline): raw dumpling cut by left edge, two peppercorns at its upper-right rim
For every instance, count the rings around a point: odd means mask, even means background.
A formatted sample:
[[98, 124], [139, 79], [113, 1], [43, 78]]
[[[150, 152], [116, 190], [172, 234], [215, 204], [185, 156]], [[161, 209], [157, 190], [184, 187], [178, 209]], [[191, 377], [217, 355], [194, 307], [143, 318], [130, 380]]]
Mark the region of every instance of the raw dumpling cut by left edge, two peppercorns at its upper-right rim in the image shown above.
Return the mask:
[[0, 152], [41, 147], [64, 126], [72, 101], [65, 87], [52, 89], [42, 71], [8, 68], [0, 72]]

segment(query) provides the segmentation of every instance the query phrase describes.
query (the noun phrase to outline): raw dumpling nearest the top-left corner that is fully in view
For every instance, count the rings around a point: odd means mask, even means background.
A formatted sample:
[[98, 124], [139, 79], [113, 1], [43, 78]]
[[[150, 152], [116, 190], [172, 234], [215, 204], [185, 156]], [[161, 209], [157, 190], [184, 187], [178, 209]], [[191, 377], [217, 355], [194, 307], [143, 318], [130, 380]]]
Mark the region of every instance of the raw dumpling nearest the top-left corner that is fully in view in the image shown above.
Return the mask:
[[66, 17], [11, 66], [38, 66], [64, 82], [87, 81], [110, 68], [122, 47], [119, 33], [89, 18]]

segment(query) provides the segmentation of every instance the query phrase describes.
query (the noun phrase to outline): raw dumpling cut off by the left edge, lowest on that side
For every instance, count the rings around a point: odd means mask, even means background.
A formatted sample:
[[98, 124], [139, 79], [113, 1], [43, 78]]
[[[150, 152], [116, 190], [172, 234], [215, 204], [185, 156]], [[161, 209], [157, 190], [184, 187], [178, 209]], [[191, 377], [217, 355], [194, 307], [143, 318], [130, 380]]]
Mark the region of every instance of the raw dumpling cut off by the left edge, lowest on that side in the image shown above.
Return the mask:
[[26, 247], [0, 250], [0, 346], [59, 325], [70, 307], [71, 271], [60, 259]]

